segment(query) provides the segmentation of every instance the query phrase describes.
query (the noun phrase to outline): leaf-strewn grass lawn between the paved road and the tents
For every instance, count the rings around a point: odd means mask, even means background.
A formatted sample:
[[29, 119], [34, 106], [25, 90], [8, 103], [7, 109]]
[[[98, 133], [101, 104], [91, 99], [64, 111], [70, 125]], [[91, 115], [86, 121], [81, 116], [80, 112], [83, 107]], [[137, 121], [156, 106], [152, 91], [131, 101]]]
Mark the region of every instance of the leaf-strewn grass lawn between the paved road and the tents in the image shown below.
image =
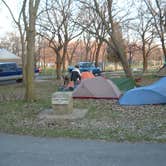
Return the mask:
[[[146, 76], [143, 84], [156, 77]], [[75, 108], [89, 111], [79, 120], [39, 120], [51, 108], [51, 95], [59, 83], [36, 82], [37, 100], [26, 103], [22, 84], [0, 86], [0, 132], [46, 137], [72, 137], [109, 141], [166, 142], [166, 105], [120, 106], [116, 100], [74, 100]]]

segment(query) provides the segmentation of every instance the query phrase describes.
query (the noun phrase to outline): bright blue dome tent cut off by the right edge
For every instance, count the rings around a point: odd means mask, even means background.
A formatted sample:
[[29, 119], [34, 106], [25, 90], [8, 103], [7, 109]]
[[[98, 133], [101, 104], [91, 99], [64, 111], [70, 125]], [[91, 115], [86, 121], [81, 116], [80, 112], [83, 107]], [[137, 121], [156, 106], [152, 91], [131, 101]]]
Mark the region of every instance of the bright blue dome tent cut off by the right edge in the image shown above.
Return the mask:
[[119, 100], [120, 105], [143, 105], [166, 103], [166, 77], [140, 88], [127, 91]]

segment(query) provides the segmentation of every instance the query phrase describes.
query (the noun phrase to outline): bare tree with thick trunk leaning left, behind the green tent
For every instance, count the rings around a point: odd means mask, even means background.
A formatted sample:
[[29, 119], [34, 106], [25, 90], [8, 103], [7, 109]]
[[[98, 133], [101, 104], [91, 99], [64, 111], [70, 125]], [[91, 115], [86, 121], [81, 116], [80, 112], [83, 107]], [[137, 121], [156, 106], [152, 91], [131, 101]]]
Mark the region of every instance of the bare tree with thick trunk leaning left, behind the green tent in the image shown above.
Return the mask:
[[[132, 72], [126, 57], [125, 47], [122, 42], [119, 43], [120, 39], [118, 39], [119, 36], [116, 29], [117, 25], [120, 27], [120, 24], [124, 22], [124, 18], [127, 14], [118, 17], [120, 11], [116, 10], [113, 0], [82, 0], [81, 2], [89, 6], [89, 8], [95, 12], [96, 16], [100, 19], [101, 24], [104, 26], [104, 32], [106, 35], [102, 36], [99, 34], [98, 38], [102, 39], [103, 42], [106, 42], [108, 47], [112, 49], [114, 55], [120, 60], [126, 76], [132, 77]], [[87, 29], [89, 29], [89, 27]], [[92, 30], [91, 33], [96, 34], [96, 32]]]

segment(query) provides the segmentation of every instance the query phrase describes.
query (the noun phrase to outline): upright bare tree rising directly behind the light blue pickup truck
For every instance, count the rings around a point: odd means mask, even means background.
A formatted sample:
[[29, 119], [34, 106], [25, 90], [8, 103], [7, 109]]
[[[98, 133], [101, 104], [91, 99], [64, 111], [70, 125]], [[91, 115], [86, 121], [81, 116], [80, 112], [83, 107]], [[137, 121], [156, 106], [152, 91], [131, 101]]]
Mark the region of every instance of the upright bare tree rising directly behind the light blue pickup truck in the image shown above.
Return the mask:
[[[86, 34], [89, 34], [85, 36], [87, 41], [86, 44], [90, 43], [86, 48], [88, 48], [88, 53], [91, 53], [91, 61], [95, 61], [95, 65], [98, 66], [100, 50], [104, 43], [103, 38], [106, 36], [105, 26], [103, 25], [101, 18], [94, 11], [94, 8], [91, 6], [90, 2], [80, 2], [82, 4], [82, 6], [80, 7], [80, 13], [85, 14], [81, 15], [80, 22], [77, 23], [85, 31]], [[91, 42], [88, 42], [89, 36], [91, 36]]]

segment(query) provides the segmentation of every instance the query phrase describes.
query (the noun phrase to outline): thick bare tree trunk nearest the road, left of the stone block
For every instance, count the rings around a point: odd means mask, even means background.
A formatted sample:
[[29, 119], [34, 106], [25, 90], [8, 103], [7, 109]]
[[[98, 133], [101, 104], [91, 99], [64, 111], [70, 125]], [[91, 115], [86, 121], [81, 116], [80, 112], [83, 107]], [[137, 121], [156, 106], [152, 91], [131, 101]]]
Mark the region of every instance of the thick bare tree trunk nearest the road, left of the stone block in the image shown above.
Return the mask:
[[[23, 0], [22, 7], [19, 13], [19, 17], [16, 20], [14, 14], [5, 0], [2, 0], [5, 6], [8, 8], [10, 15], [18, 26], [21, 43], [22, 43], [22, 65], [25, 81], [25, 99], [26, 101], [32, 101], [35, 99], [34, 93], [34, 53], [35, 53], [35, 23], [37, 18], [37, 11], [40, 0]], [[22, 20], [24, 26], [22, 27]], [[25, 42], [25, 33], [26, 42]], [[25, 51], [26, 50], [26, 51]], [[26, 54], [25, 54], [26, 52]]]

